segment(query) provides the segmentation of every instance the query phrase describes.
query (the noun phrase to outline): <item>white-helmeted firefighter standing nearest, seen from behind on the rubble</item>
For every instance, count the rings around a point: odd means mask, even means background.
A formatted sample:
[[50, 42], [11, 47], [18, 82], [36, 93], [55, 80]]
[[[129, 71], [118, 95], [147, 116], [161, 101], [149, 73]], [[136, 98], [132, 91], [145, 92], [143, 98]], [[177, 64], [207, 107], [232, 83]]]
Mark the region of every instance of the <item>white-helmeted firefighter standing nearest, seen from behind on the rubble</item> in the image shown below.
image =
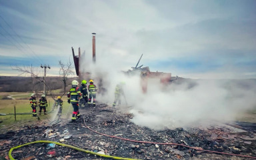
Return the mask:
[[79, 99], [81, 98], [81, 91], [79, 87], [77, 87], [78, 81], [73, 80], [72, 81], [72, 87], [67, 93], [67, 97], [69, 98], [67, 100], [68, 103], [71, 103], [73, 105], [73, 115], [72, 115], [72, 121], [77, 120], [77, 118], [80, 117], [79, 113]]

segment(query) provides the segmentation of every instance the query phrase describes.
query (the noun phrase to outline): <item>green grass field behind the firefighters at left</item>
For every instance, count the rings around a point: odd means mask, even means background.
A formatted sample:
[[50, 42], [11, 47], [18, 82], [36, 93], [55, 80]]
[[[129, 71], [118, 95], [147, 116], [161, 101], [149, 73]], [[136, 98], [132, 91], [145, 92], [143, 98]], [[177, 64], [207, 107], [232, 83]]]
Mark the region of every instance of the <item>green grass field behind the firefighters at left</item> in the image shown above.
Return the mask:
[[[15, 99], [0, 99], [0, 113], [14, 113], [15, 106], [16, 113], [29, 113], [29, 115], [16, 115], [16, 121], [15, 115], [0, 115], [0, 121], [3, 121], [2, 123], [0, 123], [0, 131], [3, 131], [3, 129], [8, 128], [12, 125], [22, 126], [24, 124], [33, 124], [40, 121], [51, 121], [52, 115], [54, 115], [54, 113], [50, 112], [54, 104], [54, 100], [51, 97], [47, 97], [48, 107], [46, 109], [49, 114], [39, 115], [40, 120], [38, 120], [37, 117], [32, 117], [32, 109], [29, 103], [31, 93], [0, 93], [2, 97], [7, 97], [8, 95], [15, 94], [17, 95], [13, 96], [13, 98]], [[73, 111], [72, 107], [70, 107], [69, 103], [67, 103], [67, 97], [63, 97], [63, 102], [64, 103], [62, 117], [67, 115], [68, 109], [70, 110], [69, 113]], [[39, 107], [37, 108], [37, 110], [39, 111]]]

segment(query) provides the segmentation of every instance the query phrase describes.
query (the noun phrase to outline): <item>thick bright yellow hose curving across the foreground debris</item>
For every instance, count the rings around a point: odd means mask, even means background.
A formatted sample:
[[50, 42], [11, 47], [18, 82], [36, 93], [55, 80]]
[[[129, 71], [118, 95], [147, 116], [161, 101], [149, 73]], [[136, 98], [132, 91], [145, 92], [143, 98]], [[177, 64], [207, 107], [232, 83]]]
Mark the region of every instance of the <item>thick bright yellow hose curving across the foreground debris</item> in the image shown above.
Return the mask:
[[106, 157], [106, 158], [110, 158], [110, 159], [126, 159], [126, 160], [135, 160], [135, 159], [130, 159], [130, 158], [123, 158], [123, 157], [115, 157], [115, 156], [111, 156], [111, 155], [102, 155], [102, 154], [99, 154], [99, 153], [95, 153], [93, 151], [88, 151], [88, 150], [85, 150], [85, 149], [81, 149], [79, 147], [75, 147], [75, 146], [72, 146], [72, 145], [67, 145], [67, 144], [64, 144], [64, 143], [59, 143], [59, 142], [55, 142], [55, 141], [33, 141], [33, 142], [30, 142], [30, 143], [25, 143], [23, 145], [18, 145], [16, 147], [12, 147], [9, 151], [9, 159], [11, 160], [15, 160], [13, 158], [13, 156], [11, 155], [11, 152], [15, 149], [18, 149], [20, 147], [23, 147], [25, 145], [31, 145], [31, 144], [34, 144], [34, 143], [55, 143], [56, 145], [61, 145], [61, 146], [64, 146], [64, 147], [69, 147], [71, 149], [75, 149], [77, 151], [82, 151], [82, 152], [85, 152], [85, 153], [89, 153], [89, 154], [92, 154], [92, 155], [99, 155], [101, 157]]

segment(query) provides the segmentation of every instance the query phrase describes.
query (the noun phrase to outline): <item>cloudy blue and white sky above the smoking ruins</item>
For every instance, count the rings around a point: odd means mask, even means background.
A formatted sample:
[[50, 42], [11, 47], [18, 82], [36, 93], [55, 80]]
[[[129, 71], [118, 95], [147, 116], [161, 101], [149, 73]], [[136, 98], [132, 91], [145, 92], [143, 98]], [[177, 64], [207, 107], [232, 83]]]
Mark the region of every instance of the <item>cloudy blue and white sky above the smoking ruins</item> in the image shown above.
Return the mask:
[[256, 78], [256, 1], [0, 0], [0, 75], [13, 65], [69, 61], [71, 47], [118, 69], [187, 78]]

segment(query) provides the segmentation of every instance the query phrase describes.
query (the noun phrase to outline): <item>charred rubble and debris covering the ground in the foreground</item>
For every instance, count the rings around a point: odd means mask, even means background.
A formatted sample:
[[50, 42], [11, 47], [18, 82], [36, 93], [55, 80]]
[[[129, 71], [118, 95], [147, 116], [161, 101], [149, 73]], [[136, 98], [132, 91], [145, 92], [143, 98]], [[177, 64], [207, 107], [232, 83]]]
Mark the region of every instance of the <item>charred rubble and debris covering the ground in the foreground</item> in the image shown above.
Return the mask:
[[[155, 131], [140, 127], [130, 121], [131, 114], [113, 110], [105, 104], [86, 107], [80, 110], [83, 118], [76, 122], [62, 121], [57, 125], [24, 126], [18, 131], [6, 131], [0, 134], [0, 157], [8, 157], [11, 147], [32, 141], [59, 141], [95, 153], [129, 157], [133, 159], [245, 159], [231, 155], [221, 155], [200, 151], [200, 149], [248, 155], [256, 157], [255, 130], [237, 130], [227, 125], [208, 127], [163, 129]], [[248, 124], [246, 123], [248, 126]], [[89, 129], [106, 135], [135, 141], [152, 141], [139, 143], [99, 135]], [[175, 143], [161, 145], [159, 143]], [[15, 159], [102, 159], [54, 143], [35, 143], [15, 149]], [[189, 145], [193, 148], [181, 145]], [[196, 150], [199, 149], [199, 150]]]

